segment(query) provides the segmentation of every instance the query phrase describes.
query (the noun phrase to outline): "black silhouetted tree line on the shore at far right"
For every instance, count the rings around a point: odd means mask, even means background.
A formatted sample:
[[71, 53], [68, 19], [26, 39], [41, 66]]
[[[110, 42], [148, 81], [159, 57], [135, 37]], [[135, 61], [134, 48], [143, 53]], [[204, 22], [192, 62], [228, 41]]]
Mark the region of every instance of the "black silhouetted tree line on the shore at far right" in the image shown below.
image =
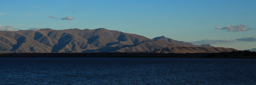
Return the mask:
[[209, 54], [208, 57], [214, 57], [214, 56], [233, 56], [233, 57], [239, 57], [239, 56], [255, 56], [255, 51], [249, 51], [249, 50], [241, 50], [241, 51], [231, 51], [231, 52], [218, 52], [218, 53], [212, 53]]

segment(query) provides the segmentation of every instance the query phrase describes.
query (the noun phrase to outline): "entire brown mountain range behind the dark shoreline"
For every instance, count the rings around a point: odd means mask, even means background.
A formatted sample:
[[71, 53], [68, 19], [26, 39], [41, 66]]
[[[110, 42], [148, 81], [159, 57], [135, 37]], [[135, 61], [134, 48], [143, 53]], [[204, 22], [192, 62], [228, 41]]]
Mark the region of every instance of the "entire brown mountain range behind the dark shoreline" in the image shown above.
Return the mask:
[[[173, 48], [173, 49], [171, 49]], [[174, 50], [175, 48], [175, 50]], [[182, 50], [181, 50], [182, 48]], [[174, 51], [168, 51], [168, 49]], [[201, 49], [201, 50], [198, 50]], [[163, 52], [164, 50], [165, 52]], [[179, 50], [179, 51], [178, 51]], [[221, 52], [236, 49], [194, 45], [164, 36], [145, 36], [98, 29], [0, 31], [0, 53], [20, 52]]]

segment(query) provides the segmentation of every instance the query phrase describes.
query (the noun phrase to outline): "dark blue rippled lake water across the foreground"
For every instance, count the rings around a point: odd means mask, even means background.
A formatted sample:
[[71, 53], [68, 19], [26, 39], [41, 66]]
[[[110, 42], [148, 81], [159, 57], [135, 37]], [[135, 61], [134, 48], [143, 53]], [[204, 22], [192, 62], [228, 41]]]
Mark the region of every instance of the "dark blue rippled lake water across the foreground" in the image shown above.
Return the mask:
[[0, 58], [0, 84], [256, 84], [256, 60]]

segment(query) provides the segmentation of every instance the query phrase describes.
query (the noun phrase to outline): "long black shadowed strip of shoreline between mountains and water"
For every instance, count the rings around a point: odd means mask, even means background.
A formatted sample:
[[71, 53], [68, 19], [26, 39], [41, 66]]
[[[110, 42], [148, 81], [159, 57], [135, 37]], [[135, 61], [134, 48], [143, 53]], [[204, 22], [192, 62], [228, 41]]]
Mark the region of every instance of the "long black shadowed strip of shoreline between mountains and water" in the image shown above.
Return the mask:
[[213, 53], [148, 53], [148, 52], [100, 52], [100, 53], [0, 53], [0, 57], [190, 57], [190, 58], [250, 58], [256, 56], [211, 56]]

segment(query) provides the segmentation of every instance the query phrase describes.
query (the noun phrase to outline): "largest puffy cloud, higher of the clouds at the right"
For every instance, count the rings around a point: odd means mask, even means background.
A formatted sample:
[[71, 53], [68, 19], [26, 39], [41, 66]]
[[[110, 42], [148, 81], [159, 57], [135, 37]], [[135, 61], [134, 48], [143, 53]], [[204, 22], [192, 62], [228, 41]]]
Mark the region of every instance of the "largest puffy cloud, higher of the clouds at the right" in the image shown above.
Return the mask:
[[[220, 29], [220, 27], [216, 27], [215, 29]], [[231, 32], [237, 32], [237, 31], [248, 31], [252, 28], [247, 28], [245, 25], [238, 25], [238, 26], [226, 26], [226, 27], [223, 27], [221, 28], [220, 30], [227, 30], [227, 31], [231, 31]]]

